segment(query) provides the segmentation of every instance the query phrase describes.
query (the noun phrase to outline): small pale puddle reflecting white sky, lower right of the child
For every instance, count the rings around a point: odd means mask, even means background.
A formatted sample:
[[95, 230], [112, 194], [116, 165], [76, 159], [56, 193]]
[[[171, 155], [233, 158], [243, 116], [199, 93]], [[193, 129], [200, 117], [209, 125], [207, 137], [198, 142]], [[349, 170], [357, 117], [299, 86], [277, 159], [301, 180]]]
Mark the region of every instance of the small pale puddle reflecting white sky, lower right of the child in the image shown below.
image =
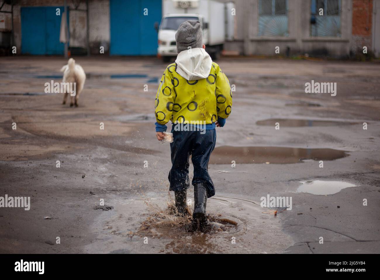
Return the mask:
[[308, 194], [328, 195], [336, 194], [340, 190], [356, 187], [354, 184], [350, 184], [342, 181], [302, 181], [302, 185], [298, 187], [297, 192], [306, 192]]

